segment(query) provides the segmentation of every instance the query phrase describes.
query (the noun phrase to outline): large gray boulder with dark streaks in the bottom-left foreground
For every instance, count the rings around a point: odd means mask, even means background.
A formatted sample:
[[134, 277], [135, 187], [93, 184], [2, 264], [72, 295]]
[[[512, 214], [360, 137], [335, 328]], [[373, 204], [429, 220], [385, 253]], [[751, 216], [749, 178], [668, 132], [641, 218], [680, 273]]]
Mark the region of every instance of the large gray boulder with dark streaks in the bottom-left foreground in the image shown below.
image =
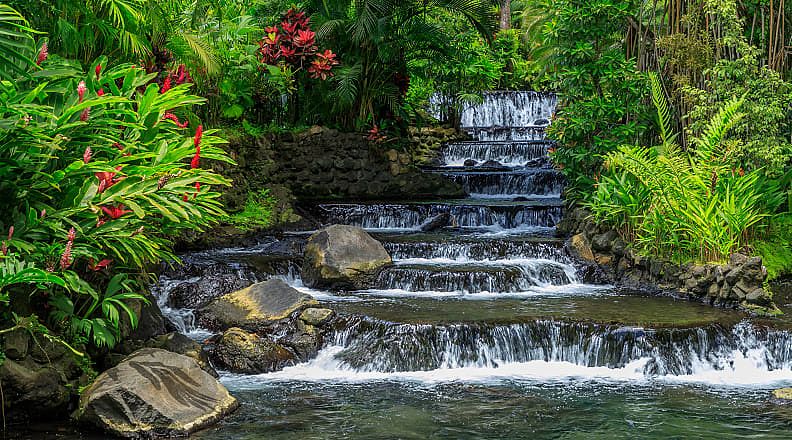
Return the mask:
[[194, 359], [144, 348], [100, 374], [83, 392], [75, 417], [120, 437], [186, 436], [237, 406]]

